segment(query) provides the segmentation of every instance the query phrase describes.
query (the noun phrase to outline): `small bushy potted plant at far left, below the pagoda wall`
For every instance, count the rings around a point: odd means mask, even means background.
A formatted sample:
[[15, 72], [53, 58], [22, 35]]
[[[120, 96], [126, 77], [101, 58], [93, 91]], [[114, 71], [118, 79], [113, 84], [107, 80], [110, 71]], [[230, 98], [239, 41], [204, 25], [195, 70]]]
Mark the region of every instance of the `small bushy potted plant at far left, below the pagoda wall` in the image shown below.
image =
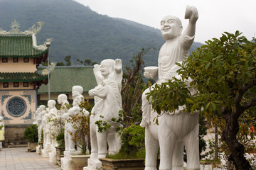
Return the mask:
[[36, 151], [38, 145], [38, 125], [28, 126], [24, 131], [24, 139], [28, 140], [28, 152]]

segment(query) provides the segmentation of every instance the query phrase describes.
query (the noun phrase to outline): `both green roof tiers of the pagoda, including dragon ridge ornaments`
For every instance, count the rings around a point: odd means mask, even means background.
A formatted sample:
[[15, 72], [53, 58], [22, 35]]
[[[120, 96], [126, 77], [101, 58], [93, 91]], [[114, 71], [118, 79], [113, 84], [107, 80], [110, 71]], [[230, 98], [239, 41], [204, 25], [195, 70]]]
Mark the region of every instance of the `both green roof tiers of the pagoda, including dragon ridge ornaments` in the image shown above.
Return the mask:
[[[11, 30], [6, 31], [0, 28], [0, 58], [34, 58], [36, 67], [48, 58], [48, 47], [50, 39], [43, 45], [37, 45], [36, 34], [40, 32], [43, 23], [38, 22], [28, 30], [19, 30], [18, 22], [11, 23]], [[41, 81], [47, 83], [47, 74], [40, 72], [0, 72], [1, 82], [11, 81]]]

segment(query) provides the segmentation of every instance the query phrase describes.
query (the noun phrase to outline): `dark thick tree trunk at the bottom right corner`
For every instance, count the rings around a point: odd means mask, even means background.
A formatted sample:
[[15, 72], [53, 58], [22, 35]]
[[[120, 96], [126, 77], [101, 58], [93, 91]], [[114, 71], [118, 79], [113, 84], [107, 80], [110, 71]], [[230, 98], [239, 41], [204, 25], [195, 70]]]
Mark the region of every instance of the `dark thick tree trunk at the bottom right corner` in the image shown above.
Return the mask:
[[230, 160], [235, 165], [236, 170], [252, 170], [252, 166], [244, 157], [245, 147], [236, 138], [240, 128], [238, 124], [240, 115], [238, 113], [230, 113], [224, 113], [226, 126], [222, 133], [222, 139], [228, 145], [228, 149], [230, 149]]

